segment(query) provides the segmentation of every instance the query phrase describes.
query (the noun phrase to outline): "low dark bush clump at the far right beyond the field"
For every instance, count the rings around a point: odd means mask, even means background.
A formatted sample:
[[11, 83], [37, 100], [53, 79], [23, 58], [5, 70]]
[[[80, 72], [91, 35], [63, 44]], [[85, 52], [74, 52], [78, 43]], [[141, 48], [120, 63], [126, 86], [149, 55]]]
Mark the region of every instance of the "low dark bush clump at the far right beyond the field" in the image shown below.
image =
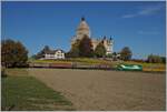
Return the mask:
[[149, 62], [149, 63], [161, 63], [163, 60], [159, 55], [149, 54], [147, 58], [147, 62]]

